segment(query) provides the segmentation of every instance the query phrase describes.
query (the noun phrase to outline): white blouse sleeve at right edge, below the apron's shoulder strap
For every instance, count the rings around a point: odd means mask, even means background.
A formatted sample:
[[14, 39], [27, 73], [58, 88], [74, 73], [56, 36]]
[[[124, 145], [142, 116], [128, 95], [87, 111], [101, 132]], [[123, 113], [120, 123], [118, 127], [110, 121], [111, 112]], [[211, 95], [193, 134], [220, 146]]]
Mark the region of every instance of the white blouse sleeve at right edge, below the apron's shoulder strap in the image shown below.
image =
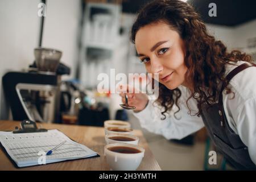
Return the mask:
[[255, 67], [251, 67], [234, 76], [230, 81], [234, 95], [222, 93], [222, 96], [229, 126], [247, 146], [256, 164], [256, 85], [251, 79], [256, 76], [255, 71]]

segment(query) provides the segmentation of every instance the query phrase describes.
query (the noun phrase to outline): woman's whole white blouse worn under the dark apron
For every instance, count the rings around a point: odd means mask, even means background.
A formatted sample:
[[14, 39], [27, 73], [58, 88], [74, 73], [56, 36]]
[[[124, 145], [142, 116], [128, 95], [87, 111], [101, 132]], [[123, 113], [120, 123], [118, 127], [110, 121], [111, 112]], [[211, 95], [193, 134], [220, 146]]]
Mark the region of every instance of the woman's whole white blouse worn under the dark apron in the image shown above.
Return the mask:
[[[237, 65], [245, 63], [238, 61]], [[236, 65], [226, 65], [226, 75]], [[229, 82], [229, 86], [235, 94], [224, 94], [223, 104], [230, 128], [238, 134], [242, 142], [248, 147], [251, 160], [256, 164], [256, 67], [244, 69]], [[161, 120], [163, 115], [160, 113], [162, 107], [154, 104], [152, 100], [147, 107], [139, 113], [134, 113], [144, 129], [156, 134], [163, 135], [167, 139], [181, 139], [187, 135], [195, 133], [204, 127], [203, 119], [197, 117], [197, 101], [191, 98], [188, 101], [191, 109], [191, 116], [188, 114], [186, 105], [187, 98], [190, 96], [189, 90], [184, 86], [179, 86], [181, 97], [179, 101], [180, 111], [175, 114], [177, 107], [166, 115], [167, 118]]]

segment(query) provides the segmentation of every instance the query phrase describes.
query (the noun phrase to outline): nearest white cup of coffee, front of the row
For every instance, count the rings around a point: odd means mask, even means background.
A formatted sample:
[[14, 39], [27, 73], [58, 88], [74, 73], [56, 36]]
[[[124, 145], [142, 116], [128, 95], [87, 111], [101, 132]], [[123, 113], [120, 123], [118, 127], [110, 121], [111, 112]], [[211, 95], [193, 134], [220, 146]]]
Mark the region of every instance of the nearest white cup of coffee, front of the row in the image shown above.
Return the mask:
[[[130, 147], [137, 149], [139, 152], [134, 154], [114, 152], [110, 150], [110, 148], [113, 147]], [[135, 144], [112, 143], [105, 146], [106, 162], [112, 170], [118, 171], [136, 170], [139, 167], [139, 164], [141, 164], [144, 152], [144, 148]]]

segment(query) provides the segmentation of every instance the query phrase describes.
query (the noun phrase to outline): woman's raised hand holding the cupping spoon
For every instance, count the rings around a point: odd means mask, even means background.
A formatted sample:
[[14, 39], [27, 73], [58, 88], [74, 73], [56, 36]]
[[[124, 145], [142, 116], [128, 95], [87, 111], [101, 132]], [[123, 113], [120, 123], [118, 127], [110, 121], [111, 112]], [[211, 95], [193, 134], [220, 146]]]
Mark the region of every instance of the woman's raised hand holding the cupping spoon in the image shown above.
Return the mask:
[[[128, 90], [128, 86], [127, 86], [127, 90]], [[133, 91], [135, 91], [135, 90], [133, 89]], [[133, 93], [121, 92], [119, 94], [119, 96], [122, 97], [123, 104], [125, 104], [125, 94], [127, 94], [127, 97], [128, 97], [128, 104], [136, 107], [136, 109], [134, 109], [135, 112], [142, 111], [143, 109], [145, 109], [147, 102], [148, 102], [148, 97], [146, 94], [138, 93], [138, 92], [137, 93], [136, 92], [133, 92]]]

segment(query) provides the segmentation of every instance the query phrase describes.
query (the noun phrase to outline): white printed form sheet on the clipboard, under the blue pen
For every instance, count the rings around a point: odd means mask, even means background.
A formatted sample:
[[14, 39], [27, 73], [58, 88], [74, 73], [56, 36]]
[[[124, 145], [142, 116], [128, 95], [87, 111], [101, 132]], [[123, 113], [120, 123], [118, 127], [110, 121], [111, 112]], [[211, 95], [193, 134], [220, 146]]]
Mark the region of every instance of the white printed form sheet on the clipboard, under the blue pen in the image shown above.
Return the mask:
[[[67, 142], [54, 150], [51, 155], [45, 155], [64, 140]], [[42, 164], [42, 157], [45, 157], [44, 161], [47, 164], [97, 155], [90, 148], [74, 142], [58, 130], [22, 134], [0, 131], [0, 142], [18, 167]]]

